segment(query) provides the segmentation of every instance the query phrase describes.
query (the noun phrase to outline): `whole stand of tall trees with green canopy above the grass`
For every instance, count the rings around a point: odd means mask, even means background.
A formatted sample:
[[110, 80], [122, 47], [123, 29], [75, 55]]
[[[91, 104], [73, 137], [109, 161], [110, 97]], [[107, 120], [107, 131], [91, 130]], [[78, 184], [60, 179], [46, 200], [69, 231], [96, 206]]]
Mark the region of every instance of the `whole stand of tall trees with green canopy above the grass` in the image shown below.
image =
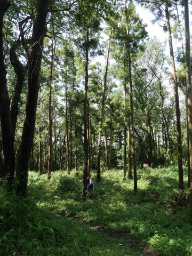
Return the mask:
[[188, 2], [140, 4], [162, 22], [170, 58], [132, 1], [0, 0], [0, 175], [7, 190], [25, 195], [28, 170], [51, 179], [53, 171], [75, 169], [86, 196], [91, 171], [99, 181], [103, 168], [123, 167], [122, 179], [133, 177], [137, 191], [137, 166], [173, 163], [178, 188], [183, 164], [192, 186]]

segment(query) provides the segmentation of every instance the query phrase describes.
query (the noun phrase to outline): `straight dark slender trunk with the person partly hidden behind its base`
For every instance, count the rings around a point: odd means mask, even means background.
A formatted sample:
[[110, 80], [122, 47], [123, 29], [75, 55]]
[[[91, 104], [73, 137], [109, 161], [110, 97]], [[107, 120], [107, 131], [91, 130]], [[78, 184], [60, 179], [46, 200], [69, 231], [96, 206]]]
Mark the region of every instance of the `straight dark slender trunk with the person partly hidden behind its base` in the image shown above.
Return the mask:
[[85, 89], [84, 89], [84, 168], [82, 196], [86, 196], [87, 190], [87, 167], [89, 158], [89, 141], [87, 138], [87, 91], [88, 91], [88, 63], [89, 63], [89, 26], [86, 28], [85, 38]]

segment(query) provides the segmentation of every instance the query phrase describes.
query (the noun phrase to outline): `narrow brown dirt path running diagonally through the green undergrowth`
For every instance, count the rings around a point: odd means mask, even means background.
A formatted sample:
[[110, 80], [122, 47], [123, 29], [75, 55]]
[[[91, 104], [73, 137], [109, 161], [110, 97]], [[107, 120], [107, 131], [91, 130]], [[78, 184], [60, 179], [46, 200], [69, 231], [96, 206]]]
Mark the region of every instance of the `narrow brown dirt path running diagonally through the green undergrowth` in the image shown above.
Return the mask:
[[114, 231], [114, 230], [110, 230], [108, 229], [106, 226], [97, 226], [95, 224], [93, 224], [92, 222], [87, 222], [83, 219], [81, 219], [78, 216], [73, 216], [73, 215], [67, 215], [65, 212], [60, 212], [60, 214], [62, 216], [65, 216], [67, 218], [70, 219], [75, 219], [87, 226], [89, 226], [90, 228], [93, 228], [95, 230], [98, 230], [99, 233], [103, 233], [109, 237], [113, 237], [115, 239], [122, 239], [124, 240], [124, 243], [129, 244], [130, 248], [133, 251], [139, 251], [142, 255], [144, 256], [163, 256], [162, 254], [159, 254], [157, 252], [151, 251], [149, 248], [147, 248], [145, 245], [139, 243], [137, 241], [137, 238], [135, 238], [134, 236], [130, 235], [129, 233], [125, 233], [123, 231]]

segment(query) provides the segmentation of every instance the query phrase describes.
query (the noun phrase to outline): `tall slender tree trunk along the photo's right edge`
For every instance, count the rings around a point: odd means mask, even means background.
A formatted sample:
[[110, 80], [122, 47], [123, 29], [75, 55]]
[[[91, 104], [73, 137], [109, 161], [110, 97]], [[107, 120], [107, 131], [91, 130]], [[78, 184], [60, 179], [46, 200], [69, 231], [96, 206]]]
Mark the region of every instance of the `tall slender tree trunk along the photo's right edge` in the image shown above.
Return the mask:
[[[186, 34], [186, 83], [188, 104], [188, 130], [189, 130], [189, 163], [190, 163], [190, 193], [192, 195], [192, 88], [191, 88], [191, 59], [190, 59], [190, 31], [188, 0], [185, 4], [185, 34]], [[192, 224], [192, 196], [190, 203], [190, 223]]]

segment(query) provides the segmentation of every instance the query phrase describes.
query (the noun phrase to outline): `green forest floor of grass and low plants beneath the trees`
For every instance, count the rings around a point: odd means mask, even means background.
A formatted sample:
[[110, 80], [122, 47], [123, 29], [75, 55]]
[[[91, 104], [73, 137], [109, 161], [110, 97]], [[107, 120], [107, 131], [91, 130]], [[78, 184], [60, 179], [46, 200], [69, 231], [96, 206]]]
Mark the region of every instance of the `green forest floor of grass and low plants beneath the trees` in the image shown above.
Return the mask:
[[0, 190], [0, 255], [191, 256], [189, 190], [177, 176], [175, 166], [138, 170], [134, 193], [122, 170], [103, 169], [83, 199], [80, 174], [30, 172], [26, 198]]

